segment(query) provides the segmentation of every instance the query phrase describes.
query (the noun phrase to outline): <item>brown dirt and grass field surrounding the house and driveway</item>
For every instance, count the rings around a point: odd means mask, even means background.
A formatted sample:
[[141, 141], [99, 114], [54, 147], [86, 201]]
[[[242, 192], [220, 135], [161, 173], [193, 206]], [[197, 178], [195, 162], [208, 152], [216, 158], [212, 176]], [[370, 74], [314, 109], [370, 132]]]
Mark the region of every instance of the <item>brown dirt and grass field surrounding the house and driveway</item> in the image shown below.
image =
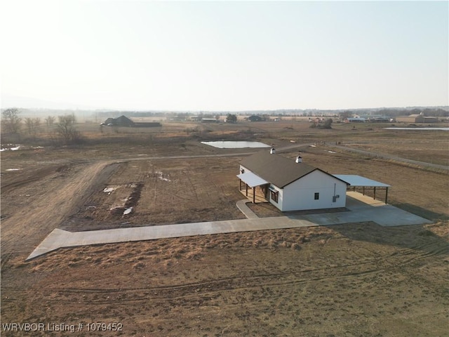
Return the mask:
[[[330, 153], [335, 149], [322, 145], [342, 142], [447, 165], [447, 133], [381, 127], [163, 122], [161, 128], [101, 133], [83, 124], [81, 145], [1, 152], [1, 322], [43, 323], [46, 329], [11, 332], [2, 326], [1, 336], [72, 335], [48, 331], [48, 324], [61, 323], [76, 329], [83, 323], [79, 336], [448, 336], [448, 174]], [[200, 143], [214, 139], [290, 146], [283, 151], [287, 157], [301, 150], [305, 162], [330, 173], [388, 183], [389, 204], [434, 223], [82, 246], [25, 262], [54, 228], [243, 218], [235, 206], [242, 199], [236, 174], [252, 150]], [[313, 143], [318, 145], [308, 146]], [[105, 187], [114, 190], [108, 194]], [[133, 212], [123, 216], [130, 206]], [[260, 216], [276, 215], [267, 205], [252, 207]], [[100, 326], [105, 331], [88, 331], [88, 323], [106, 323]], [[109, 323], [123, 324], [123, 331], [110, 331]]]

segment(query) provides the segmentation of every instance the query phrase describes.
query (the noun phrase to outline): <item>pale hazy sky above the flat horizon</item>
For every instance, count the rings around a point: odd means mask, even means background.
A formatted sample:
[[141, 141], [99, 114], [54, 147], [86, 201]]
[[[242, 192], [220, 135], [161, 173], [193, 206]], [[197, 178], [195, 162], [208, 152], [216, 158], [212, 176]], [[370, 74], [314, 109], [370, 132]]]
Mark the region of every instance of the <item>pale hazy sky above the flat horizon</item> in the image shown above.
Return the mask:
[[4, 102], [220, 111], [449, 105], [448, 1], [3, 0], [0, 10]]

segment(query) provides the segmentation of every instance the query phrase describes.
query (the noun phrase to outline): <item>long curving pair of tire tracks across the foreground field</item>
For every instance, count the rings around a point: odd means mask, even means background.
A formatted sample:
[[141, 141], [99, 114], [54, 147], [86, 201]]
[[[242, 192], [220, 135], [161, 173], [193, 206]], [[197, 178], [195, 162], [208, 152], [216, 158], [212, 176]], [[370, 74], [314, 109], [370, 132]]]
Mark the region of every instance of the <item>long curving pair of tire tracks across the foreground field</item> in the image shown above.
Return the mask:
[[[342, 265], [328, 265], [326, 267], [309, 267], [305, 269], [291, 268], [283, 272], [260, 273], [235, 277], [221, 277], [201, 282], [189, 282], [162, 286], [143, 286], [130, 288], [77, 288], [48, 289], [51, 292], [51, 302], [74, 303], [79, 301], [83, 293], [83, 303], [87, 305], [102, 305], [121, 303], [141, 303], [151, 300], [189, 300], [206, 296], [214, 298], [222, 295], [223, 291], [239, 292], [248, 289], [264, 291], [285, 286], [304, 286], [317, 282], [342, 282], [343, 279], [360, 279], [384, 275], [397, 270], [398, 265], [405, 265], [425, 258], [448, 253], [445, 242], [430, 242], [412, 249], [400, 249], [389, 256], [373, 256], [361, 263], [344, 263]], [[423, 249], [424, 251], [422, 251]], [[108, 296], [107, 298], [105, 296]]]

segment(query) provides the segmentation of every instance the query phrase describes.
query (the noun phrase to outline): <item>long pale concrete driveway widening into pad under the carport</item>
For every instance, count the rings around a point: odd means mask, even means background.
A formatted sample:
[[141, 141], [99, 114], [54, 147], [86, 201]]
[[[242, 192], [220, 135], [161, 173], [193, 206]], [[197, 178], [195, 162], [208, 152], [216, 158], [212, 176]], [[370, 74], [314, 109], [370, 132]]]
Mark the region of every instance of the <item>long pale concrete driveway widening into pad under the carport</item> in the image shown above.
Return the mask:
[[[240, 220], [132, 227], [115, 230], [93, 230], [88, 232], [67, 232], [65, 230], [55, 229], [34, 249], [27, 260], [62, 247], [86, 246], [91, 244], [112, 244], [172, 237], [249, 232], [255, 230], [277, 230], [295, 227], [337, 225], [342, 223], [361, 223], [366, 221], [373, 221], [382, 226], [431, 223], [431, 221], [420, 216], [415, 216], [412, 213], [397, 209], [394, 206], [384, 204], [382, 201], [374, 200], [357, 192], [348, 192], [347, 196], [347, 209], [349, 211], [337, 213], [308, 214], [302, 216], [288, 215], [272, 218], [257, 218], [256, 216], [256, 218]], [[248, 208], [243, 201], [241, 201], [242, 203]], [[251, 213], [253, 212], [251, 211]], [[251, 216], [250, 213], [247, 216]]]

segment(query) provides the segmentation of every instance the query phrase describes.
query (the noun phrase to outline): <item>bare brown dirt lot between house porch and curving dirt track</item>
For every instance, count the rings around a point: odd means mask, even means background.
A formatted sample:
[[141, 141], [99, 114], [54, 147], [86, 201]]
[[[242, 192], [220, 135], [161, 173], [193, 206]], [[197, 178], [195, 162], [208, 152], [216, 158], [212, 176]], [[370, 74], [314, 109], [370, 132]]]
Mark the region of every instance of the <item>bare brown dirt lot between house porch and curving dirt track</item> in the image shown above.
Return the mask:
[[[245, 218], [235, 158], [128, 161], [61, 228], [72, 232]], [[192, 169], [194, 167], [194, 169]], [[234, 182], [234, 185], [229, 184]], [[132, 213], [123, 211], [133, 207]]]

